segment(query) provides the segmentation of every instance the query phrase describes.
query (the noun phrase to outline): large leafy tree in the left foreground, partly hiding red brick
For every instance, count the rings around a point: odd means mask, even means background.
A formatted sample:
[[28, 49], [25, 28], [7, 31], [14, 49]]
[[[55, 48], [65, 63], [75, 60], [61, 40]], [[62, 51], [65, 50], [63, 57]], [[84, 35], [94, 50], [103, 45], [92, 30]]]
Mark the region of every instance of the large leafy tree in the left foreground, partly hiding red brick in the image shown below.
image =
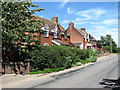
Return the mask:
[[[29, 7], [38, 7], [30, 2], [1, 2], [2, 5], [2, 50], [3, 60], [9, 59], [12, 54], [19, 56], [21, 60], [28, 59], [31, 45], [39, 45], [42, 21], [36, 20], [32, 14], [35, 11]], [[14, 55], [14, 57], [16, 57]]]

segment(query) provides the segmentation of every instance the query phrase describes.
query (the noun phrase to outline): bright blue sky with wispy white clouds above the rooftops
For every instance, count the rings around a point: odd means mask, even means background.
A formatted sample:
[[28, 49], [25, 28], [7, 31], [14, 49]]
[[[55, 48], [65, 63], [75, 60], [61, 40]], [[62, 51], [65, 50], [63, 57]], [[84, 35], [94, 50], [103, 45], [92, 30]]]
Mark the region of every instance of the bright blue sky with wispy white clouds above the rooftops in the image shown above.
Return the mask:
[[[51, 20], [57, 16], [58, 22], [68, 28], [69, 22], [75, 28], [85, 28], [97, 40], [109, 34], [118, 44], [118, 2], [33, 2], [44, 11], [36, 16]], [[31, 8], [33, 9], [33, 8]]]

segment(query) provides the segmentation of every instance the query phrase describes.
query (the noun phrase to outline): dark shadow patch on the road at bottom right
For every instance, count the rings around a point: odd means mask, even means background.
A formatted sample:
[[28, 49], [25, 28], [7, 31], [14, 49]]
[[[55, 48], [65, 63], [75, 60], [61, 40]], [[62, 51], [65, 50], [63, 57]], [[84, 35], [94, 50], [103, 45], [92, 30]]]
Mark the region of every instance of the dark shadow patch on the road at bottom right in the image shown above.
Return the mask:
[[120, 90], [120, 77], [118, 79], [103, 79], [99, 82], [104, 88], [112, 88], [112, 90]]

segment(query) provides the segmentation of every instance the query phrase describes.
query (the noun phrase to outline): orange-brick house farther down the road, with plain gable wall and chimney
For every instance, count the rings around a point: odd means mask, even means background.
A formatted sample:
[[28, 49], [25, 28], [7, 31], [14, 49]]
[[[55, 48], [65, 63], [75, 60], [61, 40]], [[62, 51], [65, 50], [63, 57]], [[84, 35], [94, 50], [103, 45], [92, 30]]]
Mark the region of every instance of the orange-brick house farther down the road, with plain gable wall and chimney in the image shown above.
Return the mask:
[[97, 49], [96, 39], [85, 31], [85, 28], [75, 28], [74, 23], [70, 22], [67, 28], [67, 33], [70, 35], [70, 43], [80, 49]]

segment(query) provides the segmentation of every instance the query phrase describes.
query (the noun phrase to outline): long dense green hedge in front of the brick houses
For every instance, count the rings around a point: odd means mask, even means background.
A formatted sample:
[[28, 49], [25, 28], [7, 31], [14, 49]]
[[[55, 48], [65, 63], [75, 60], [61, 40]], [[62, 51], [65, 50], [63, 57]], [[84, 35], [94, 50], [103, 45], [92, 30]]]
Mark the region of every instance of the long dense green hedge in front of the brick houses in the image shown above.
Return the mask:
[[[33, 46], [30, 52], [31, 71], [57, 69], [61, 67], [70, 68], [76, 64], [91, 62], [94, 59], [93, 50], [81, 50], [68, 46]], [[88, 58], [91, 58], [88, 60]]]

